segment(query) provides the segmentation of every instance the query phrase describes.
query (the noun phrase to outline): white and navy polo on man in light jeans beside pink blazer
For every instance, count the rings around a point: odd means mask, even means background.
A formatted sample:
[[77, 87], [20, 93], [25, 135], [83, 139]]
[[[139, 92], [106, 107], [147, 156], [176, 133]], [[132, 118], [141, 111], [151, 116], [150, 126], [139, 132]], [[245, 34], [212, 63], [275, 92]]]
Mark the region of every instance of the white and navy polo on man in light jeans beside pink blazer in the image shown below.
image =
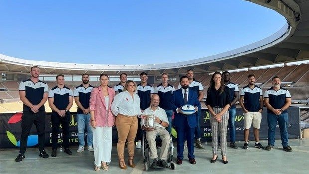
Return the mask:
[[[82, 84], [75, 88], [74, 90], [74, 97], [78, 97], [79, 102], [82, 104], [82, 106], [87, 109], [89, 108], [89, 99], [91, 90], [94, 87], [89, 85], [88, 88], [85, 88]], [[77, 107], [77, 114], [83, 114], [83, 110], [81, 110], [79, 107]]]

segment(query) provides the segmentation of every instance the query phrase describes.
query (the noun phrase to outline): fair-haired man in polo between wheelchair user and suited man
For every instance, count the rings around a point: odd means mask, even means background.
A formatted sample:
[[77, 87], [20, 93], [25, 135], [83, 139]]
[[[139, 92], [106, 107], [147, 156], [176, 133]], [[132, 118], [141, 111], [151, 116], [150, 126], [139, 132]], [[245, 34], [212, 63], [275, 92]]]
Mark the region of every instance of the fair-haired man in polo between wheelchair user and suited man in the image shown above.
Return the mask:
[[170, 105], [170, 100], [175, 88], [168, 83], [168, 74], [166, 72], [161, 75], [161, 81], [162, 83], [154, 88], [154, 93], [160, 97], [159, 107], [163, 108], [166, 112], [169, 122], [167, 131], [171, 134], [173, 110]]

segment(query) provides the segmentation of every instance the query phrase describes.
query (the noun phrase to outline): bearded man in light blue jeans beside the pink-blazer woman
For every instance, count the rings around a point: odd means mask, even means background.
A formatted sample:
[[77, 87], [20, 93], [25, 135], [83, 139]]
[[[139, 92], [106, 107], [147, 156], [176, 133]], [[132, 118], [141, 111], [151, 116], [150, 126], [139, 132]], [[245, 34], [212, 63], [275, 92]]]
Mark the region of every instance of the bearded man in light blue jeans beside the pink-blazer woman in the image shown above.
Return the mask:
[[75, 88], [74, 98], [77, 105], [77, 130], [78, 130], [78, 150], [77, 153], [84, 151], [85, 146], [85, 125], [87, 126], [87, 145], [88, 151], [92, 152], [93, 139], [90, 122], [89, 99], [93, 86], [89, 84], [89, 74], [82, 75], [82, 84]]

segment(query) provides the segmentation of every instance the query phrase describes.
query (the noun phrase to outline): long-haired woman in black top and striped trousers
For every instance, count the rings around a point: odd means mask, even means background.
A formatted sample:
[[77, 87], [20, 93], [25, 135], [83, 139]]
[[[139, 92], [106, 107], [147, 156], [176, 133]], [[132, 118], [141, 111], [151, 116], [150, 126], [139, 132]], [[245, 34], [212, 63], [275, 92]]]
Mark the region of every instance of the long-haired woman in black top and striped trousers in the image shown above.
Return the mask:
[[212, 153], [211, 163], [218, 159], [218, 138], [220, 134], [221, 155], [224, 164], [226, 159], [226, 131], [229, 121], [230, 90], [224, 85], [222, 74], [215, 72], [210, 80], [207, 90], [206, 106], [210, 112], [210, 126], [212, 132]]

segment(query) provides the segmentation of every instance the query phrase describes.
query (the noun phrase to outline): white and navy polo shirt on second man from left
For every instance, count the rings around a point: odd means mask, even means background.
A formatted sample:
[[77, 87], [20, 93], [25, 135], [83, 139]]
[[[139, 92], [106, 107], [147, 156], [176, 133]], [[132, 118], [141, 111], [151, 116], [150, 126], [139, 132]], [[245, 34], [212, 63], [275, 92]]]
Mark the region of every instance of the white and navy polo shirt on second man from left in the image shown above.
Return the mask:
[[[73, 97], [73, 91], [64, 86], [62, 89], [58, 86], [55, 86], [51, 90], [49, 90], [48, 98], [54, 98], [54, 105], [59, 110], [64, 110], [69, 104], [69, 97]], [[51, 115], [58, 115], [55, 111], [51, 112]]]

